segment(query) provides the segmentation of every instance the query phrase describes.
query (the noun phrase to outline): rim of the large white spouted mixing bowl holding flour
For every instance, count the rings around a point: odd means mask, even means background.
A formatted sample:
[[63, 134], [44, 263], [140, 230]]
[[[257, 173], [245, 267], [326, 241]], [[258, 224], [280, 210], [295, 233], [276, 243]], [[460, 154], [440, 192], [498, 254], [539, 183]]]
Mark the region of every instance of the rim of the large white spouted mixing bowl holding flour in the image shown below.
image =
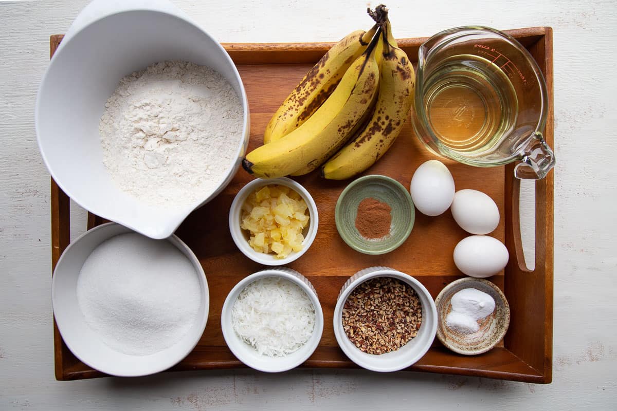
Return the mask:
[[[75, 192], [73, 190], [68, 189], [68, 187], [65, 185], [65, 182], [62, 181], [62, 179], [58, 179], [57, 174], [54, 172], [54, 168], [51, 166], [51, 163], [49, 162], [49, 159], [43, 150], [43, 144], [42, 144], [42, 138], [41, 138], [41, 133], [43, 131], [41, 131], [42, 127], [39, 124], [39, 121], [40, 121], [39, 113], [41, 112], [41, 104], [42, 104], [41, 94], [46, 84], [49, 83], [49, 76], [52, 71], [51, 70], [52, 67], [54, 67], [54, 65], [57, 64], [57, 60], [61, 59], [62, 56], [66, 54], [67, 45], [73, 43], [73, 41], [75, 41], [75, 38], [78, 38], [78, 36], [83, 31], [89, 30], [91, 26], [96, 25], [97, 23], [100, 23], [103, 20], [106, 20], [107, 18], [114, 18], [118, 15], [122, 15], [126, 13], [135, 13], [135, 12], [161, 14], [161, 15], [167, 15], [168, 17], [176, 18], [176, 20], [178, 20], [179, 22], [182, 22], [184, 24], [187, 24], [187, 25], [190, 25], [196, 28], [202, 33], [202, 35], [205, 36], [205, 38], [210, 39], [210, 41], [212, 41], [212, 43], [215, 45], [218, 51], [222, 54], [226, 62], [229, 63], [231, 72], [233, 73], [233, 77], [236, 78], [236, 80], [238, 81], [238, 88], [239, 88], [238, 97], [242, 105], [242, 131], [240, 134], [241, 139], [239, 140], [239, 145], [236, 150], [236, 152], [238, 153], [238, 156], [237, 156], [238, 158], [234, 160], [234, 163], [230, 163], [230, 173], [226, 175], [225, 178], [222, 179], [222, 181], [220, 181], [220, 184], [217, 186], [218, 188], [215, 189], [212, 193], [210, 193], [207, 197], [202, 198], [201, 200], [196, 200], [194, 201], [194, 203], [180, 206], [178, 208], [173, 209], [170, 215], [175, 216], [175, 219], [170, 218], [169, 220], [170, 222], [168, 223], [167, 226], [165, 226], [164, 229], [162, 228], [163, 226], [161, 226], [161, 227], [157, 227], [157, 230], [154, 230], [154, 231], [149, 227], [141, 227], [141, 228], [136, 227], [135, 224], [133, 224], [133, 222], [130, 221], [130, 218], [126, 218], [126, 216], [125, 217], [120, 216], [120, 218], [118, 218], [117, 216], [114, 215], [115, 213], [110, 213], [106, 211], [104, 207], [102, 207], [101, 205], [97, 203], [92, 203], [91, 201], [85, 201], [83, 198], [80, 198], [80, 196], [75, 197]], [[152, 63], [155, 63], [155, 62], [151, 62], [150, 64]], [[118, 81], [120, 81], [120, 79], [118, 79]], [[77, 203], [79, 206], [81, 206], [81, 208], [91, 211], [97, 216], [101, 216], [102, 218], [107, 219], [109, 221], [114, 221], [114, 222], [117, 222], [118, 224], [122, 224], [123, 226], [128, 227], [131, 230], [138, 232], [139, 234], [145, 235], [146, 237], [150, 237], [155, 240], [161, 240], [163, 238], [167, 238], [170, 235], [172, 235], [173, 232], [175, 232], [175, 230], [178, 229], [180, 224], [182, 224], [184, 219], [186, 219], [190, 213], [192, 213], [194, 210], [197, 210], [197, 208], [200, 208], [201, 206], [205, 205], [209, 201], [213, 200], [213, 198], [217, 197], [217, 195], [220, 192], [222, 192], [223, 189], [225, 189], [226, 185], [230, 184], [231, 180], [233, 179], [233, 176], [237, 173], [240, 163], [241, 163], [241, 159], [247, 150], [247, 147], [249, 144], [249, 137], [250, 137], [249, 133], [251, 131], [250, 129], [251, 129], [251, 116], [250, 116], [250, 111], [249, 111], [249, 100], [246, 94], [244, 83], [242, 83], [242, 78], [238, 71], [238, 67], [236, 67], [236, 63], [233, 62], [229, 53], [225, 50], [225, 47], [223, 47], [222, 44], [217, 41], [217, 39], [213, 38], [213, 36], [207, 33], [207, 31], [205, 31], [204, 28], [202, 28], [202, 26], [198, 25], [196, 22], [191, 20], [191, 18], [189, 18], [183, 12], [173, 13], [173, 12], [170, 12], [169, 10], [163, 10], [163, 9], [152, 9], [152, 8], [147, 8], [147, 7], [131, 7], [130, 9], [123, 9], [117, 12], [103, 14], [103, 15], [100, 15], [94, 18], [93, 20], [89, 21], [86, 25], [78, 28], [78, 30], [72, 33], [72, 36], [70, 36], [70, 38], [63, 39], [61, 47], [58, 47], [56, 53], [54, 53], [54, 55], [52, 56], [52, 59], [49, 62], [48, 67], [46, 68], [43, 74], [43, 78], [41, 79], [41, 83], [39, 84], [38, 89], [36, 91], [36, 100], [35, 100], [36, 144], [39, 149], [39, 153], [41, 154], [41, 158], [43, 158], [44, 165], [48, 169], [49, 174], [51, 174], [52, 179], [54, 179], [58, 187], [60, 187], [62, 191], [67, 193], [68, 197], [72, 198], [72, 200], [75, 201], [75, 203]]]

